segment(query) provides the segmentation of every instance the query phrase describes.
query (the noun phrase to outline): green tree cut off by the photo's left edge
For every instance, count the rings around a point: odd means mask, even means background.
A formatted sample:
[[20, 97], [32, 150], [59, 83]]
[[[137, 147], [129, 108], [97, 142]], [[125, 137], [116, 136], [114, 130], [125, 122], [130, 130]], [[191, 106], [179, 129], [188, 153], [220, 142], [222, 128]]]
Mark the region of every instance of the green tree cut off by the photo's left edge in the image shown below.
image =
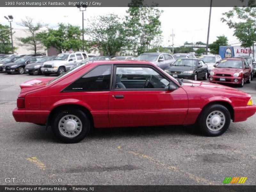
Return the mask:
[[12, 52], [12, 43], [10, 41], [10, 27], [0, 24], [0, 53], [9, 54]]

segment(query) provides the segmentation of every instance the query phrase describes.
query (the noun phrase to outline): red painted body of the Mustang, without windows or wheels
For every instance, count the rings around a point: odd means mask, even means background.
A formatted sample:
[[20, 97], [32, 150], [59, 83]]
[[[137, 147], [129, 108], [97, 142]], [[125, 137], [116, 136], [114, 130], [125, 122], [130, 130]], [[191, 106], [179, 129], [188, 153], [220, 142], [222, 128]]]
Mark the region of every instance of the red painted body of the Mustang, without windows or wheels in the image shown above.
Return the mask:
[[[191, 81], [180, 86], [173, 77], [157, 68], [179, 87], [170, 90], [109, 90], [62, 92], [69, 84], [90, 69], [101, 64], [150, 65], [144, 61], [97, 61], [89, 63], [51, 84], [52, 78], [30, 80], [20, 85], [19, 98], [25, 98], [25, 108], [12, 112], [17, 122], [46, 124], [51, 111], [63, 105], [77, 105], [92, 114], [95, 127], [194, 124], [204, 106], [210, 102], [225, 102], [234, 110], [234, 122], [245, 121], [256, 112], [247, 106], [251, 95], [223, 85]], [[115, 98], [115, 95], [124, 95]]]

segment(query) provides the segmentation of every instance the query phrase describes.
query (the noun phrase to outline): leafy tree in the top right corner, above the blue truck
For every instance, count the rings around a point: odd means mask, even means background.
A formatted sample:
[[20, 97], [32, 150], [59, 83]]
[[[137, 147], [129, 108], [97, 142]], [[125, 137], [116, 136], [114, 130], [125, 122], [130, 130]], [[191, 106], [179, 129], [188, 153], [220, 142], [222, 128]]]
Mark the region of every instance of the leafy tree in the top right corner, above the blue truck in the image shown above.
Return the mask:
[[221, 21], [234, 29], [234, 36], [241, 42], [241, 46], [251, 48], [256, 41], [256, 7], [234, 7], [222, 15], [224, 17]]

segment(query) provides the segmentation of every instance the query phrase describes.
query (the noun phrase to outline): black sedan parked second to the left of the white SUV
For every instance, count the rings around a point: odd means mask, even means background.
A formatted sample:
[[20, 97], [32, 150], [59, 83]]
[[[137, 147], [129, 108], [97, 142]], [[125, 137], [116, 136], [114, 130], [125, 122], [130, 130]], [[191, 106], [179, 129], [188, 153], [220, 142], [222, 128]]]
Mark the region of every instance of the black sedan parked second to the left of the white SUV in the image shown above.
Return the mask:
[[21, 57], [20, 59], [12, 62], [6, 63], [3, 65], [3, 72], [11, 74], [11, 73], [18, 73], [24, 74], [24, 68], [29, 63], [36, 62], [38, 57]]

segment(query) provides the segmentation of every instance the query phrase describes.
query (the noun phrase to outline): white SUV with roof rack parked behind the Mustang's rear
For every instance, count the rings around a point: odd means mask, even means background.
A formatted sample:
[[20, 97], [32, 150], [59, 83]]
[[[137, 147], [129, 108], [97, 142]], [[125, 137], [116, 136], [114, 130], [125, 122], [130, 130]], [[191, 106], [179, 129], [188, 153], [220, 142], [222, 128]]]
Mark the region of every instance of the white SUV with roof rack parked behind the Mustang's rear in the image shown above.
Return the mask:
[[41, 71], [45, 76], [53, 73], [57, 73], [59, 76], [86, 58], [88, 56], [84, 52], [60, 53], [54, 60], [46, 61]]

